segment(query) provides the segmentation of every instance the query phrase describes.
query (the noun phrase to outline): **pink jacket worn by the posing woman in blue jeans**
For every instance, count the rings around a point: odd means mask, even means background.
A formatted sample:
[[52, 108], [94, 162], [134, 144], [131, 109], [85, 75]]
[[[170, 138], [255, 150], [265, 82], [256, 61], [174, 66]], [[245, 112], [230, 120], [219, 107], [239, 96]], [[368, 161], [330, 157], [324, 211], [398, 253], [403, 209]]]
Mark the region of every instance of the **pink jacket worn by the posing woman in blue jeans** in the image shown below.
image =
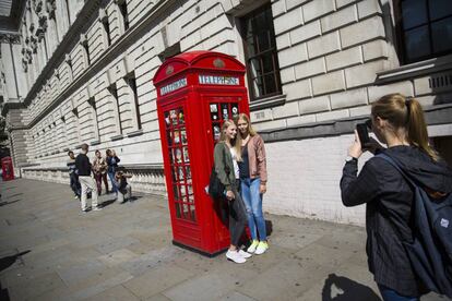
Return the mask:
[[250, 178], [260, 178], [261, 183], [266, 183], [266, 158], [263, 139], [255, 134], [248, 141], [248, 160], [250, 164]]

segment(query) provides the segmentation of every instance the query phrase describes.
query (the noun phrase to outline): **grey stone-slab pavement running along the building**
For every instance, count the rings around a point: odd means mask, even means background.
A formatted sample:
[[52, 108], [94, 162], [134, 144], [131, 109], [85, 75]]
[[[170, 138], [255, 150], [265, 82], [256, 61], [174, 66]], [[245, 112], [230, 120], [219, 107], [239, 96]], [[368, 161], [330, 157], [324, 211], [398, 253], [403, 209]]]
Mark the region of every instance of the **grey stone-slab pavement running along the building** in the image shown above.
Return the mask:
[[103, 210], [83, 214], [69, 185], [19, 179], [0, 191], [11, 300], [380, 300], [360, 227], [266, 215], [269, 252], [237, 265], [173, 245], [156, 196], [118, 205], [103, 195]]

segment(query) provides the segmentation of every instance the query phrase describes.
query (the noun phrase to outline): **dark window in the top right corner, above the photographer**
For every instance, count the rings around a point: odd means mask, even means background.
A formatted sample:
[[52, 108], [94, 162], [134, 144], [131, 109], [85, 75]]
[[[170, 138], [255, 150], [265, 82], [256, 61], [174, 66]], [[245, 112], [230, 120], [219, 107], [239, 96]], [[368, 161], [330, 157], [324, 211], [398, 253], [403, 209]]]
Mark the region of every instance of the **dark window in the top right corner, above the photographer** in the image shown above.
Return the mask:
[[399, 0], [395, 8], [405, 63], [452, 52], [450, 0]]

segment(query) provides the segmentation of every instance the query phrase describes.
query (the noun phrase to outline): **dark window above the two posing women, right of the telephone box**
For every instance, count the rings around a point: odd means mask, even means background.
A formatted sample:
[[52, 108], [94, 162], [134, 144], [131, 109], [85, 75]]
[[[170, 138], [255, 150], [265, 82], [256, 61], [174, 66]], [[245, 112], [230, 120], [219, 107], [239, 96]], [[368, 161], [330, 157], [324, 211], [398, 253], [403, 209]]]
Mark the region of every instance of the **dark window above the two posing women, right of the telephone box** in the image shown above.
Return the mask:
[[241, 20], [251, 100], [281, 94], [271, 4]]

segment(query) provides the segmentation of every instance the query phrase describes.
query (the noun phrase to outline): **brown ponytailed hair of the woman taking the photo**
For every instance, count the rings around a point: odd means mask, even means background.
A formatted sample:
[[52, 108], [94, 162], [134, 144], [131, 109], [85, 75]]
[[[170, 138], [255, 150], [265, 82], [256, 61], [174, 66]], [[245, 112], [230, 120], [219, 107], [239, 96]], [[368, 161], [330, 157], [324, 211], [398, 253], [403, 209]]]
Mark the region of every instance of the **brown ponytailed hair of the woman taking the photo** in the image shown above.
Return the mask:
[[409, 144], [438, 160], [437, 152], [428, 143], [427, 123], [419, 101], [400, 93], [389, 94], [372, 104], [372, 116], [388, 120], [395, 131], [404, 129]]

